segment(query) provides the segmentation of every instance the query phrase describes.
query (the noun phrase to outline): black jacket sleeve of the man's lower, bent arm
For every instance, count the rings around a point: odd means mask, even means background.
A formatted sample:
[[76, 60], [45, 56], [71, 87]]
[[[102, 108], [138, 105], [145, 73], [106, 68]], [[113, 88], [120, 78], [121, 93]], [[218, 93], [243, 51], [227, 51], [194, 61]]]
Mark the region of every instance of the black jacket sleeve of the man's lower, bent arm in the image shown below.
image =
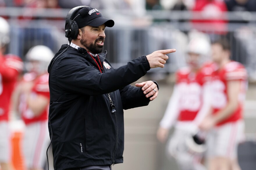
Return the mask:
[[143, 94], [141, 87], [134, 87], [127, 85], [119, 89], [123, 109], [131, 109], [134, 107], [147, 106], [150, 102], [150, 97], [146, 98], [146, 95]]

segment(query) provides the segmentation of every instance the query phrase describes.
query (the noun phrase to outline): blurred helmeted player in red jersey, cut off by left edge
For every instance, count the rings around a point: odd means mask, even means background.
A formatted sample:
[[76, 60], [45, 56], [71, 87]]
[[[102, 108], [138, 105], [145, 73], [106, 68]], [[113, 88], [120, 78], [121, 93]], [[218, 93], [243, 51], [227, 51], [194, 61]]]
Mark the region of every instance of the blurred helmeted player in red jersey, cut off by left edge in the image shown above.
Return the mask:
[[0, 17], [0, 164], [2, 170], [11, 169], [11, 139], [8, 127], [10, 100], [15, 83], [23, 68], [18, 56], [6, 54], [10, 42], [10, 26]]

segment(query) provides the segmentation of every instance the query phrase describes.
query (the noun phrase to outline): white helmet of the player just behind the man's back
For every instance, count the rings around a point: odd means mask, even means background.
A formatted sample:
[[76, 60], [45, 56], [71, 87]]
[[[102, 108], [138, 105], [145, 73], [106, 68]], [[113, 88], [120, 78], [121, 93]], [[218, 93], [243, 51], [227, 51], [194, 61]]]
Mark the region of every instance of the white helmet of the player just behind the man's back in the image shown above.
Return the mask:
[[51, 62], [51, 59], [54, 57], [54, 53], [51, 49], [45, 45], [36, 45], [29, 49], [26, 54], [26, 60], [31, 61], [38, 61], [39, 65], [37, 68], [33, 68], [31, 63], [27, 63], [26, 69], [28, 71], [36, 71], [38, 74], [47, 71], [48, 65]]

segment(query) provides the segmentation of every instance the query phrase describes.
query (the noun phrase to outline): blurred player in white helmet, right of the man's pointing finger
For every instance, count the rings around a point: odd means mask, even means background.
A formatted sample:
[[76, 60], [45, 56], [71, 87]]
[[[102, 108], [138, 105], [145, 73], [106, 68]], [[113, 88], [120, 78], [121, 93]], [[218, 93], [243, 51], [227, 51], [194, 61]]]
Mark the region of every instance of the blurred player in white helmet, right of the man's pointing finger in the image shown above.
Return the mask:
[[[198, 132], [198, 124], [209, 109], [208, 81], [212, 73], [209, 59], [210, 43], [203, 37], [193, 38], [187, 49], [187, 64], [176, 72], [176, 83], [165, 114], [157, 131], [157, 138], [165, 142], [169, 129], [175, 131], [167, 143], [167, 154], [175, 158], [181, 170], [203, 170], [201, 163], [205, 144], [191, 143]], [[190, 145], [190, 147], [189, 147]]]

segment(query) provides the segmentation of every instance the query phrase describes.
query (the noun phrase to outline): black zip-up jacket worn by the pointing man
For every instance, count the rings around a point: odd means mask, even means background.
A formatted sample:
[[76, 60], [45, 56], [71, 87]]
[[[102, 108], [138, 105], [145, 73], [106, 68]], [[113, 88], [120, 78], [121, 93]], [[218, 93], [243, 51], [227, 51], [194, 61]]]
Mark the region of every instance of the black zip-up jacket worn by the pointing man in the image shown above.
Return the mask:
[[[66, 47], [62, 45], [54, 59]], [[129, 85], [150, 69], [146, 56], [118, 69], [105, 56], [106, 51], [99, 54], [102, 73], [84, 48], [69, 47], [49, 65], [48, 123], [56, 170], [122, 163], [123, 109], [150, 102], [141, 88]]]

